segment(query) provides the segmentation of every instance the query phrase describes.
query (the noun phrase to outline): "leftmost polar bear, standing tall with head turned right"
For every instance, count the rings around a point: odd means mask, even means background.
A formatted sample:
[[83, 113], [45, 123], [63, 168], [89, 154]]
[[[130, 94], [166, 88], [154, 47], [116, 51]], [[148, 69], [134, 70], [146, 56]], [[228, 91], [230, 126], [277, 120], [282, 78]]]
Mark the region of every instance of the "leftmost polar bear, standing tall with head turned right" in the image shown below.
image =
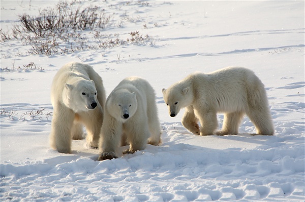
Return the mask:
[[71, 153], [71, 139], [83, 139], [82, 124], [87, 144], [98, 147], [105, 101], [102, 78], [92, 66], [71, 62], [60, 68], [51, 87], [51, 147]]

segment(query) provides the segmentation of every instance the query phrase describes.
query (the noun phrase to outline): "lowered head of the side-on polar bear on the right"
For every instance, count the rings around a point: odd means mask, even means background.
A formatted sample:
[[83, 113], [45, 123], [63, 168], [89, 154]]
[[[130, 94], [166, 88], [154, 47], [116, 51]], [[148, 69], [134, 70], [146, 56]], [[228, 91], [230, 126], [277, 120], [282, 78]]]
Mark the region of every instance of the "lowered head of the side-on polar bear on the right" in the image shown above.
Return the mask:
[[171, 117], [175, 117], [181, 108], [191, 105], [193, 100], [190, 87], [175, 85], [168, 89], [162, 89], [162, 92], [163, 99], [168, 106], [168, 112]]

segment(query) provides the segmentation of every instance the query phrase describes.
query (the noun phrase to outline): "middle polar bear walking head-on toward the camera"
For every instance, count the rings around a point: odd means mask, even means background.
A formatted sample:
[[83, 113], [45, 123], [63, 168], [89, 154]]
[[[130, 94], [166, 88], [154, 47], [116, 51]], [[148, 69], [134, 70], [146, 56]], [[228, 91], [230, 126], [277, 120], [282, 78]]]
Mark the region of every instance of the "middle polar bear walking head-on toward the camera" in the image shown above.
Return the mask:
[[123, 153], [133, 153], [147, 142], [161, 143], [155, 96], [153, 87], [139, 77], [127, 77], [114, 88], [105, 104], [99, 160], [116, 158], [119, 144], [129, 144]]

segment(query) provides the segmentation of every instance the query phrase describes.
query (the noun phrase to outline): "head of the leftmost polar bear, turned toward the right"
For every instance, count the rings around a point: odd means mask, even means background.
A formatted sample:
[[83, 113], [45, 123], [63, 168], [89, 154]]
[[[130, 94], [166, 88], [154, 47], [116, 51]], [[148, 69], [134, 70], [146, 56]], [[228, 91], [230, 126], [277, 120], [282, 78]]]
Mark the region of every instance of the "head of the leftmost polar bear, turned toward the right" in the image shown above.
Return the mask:
[[97, 96], [94, 80], [80, 79], [72, 84], [65, 84], [63, 102], [74, 112], [87, 111], [98, 106]]

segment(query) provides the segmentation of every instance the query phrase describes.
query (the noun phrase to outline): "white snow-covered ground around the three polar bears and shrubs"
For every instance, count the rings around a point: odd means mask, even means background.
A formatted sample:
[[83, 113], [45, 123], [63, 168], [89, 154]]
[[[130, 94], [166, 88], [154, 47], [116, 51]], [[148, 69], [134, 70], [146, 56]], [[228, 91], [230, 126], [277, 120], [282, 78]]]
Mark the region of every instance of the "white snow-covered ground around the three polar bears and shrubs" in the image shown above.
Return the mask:
[[[57, 3], [1, 1], [1, 28]], [[17, 39], [1, 42], [1, 201], [304, 201], [304, 1], [69, 5], [112, 16], [111, 26], [95, 31], [123, 39], [139, 31], [150, 39], [51, 56], [29, 54], [31, 46]], [[104, 161], [85, 140], [73, 141], [72, 154], [52, 150], [51, 81], [70, 61], [92, 65], [107, 95], [127, 76], [147, 79], [157, 93], [163, 144]], [[24, 67], [32, 62], [37, 68]], [[168, 115], [162, 88], [226, 66], [248, 67], [265, 84], [274, 136], [251, 136], [245, 117], [238, 135], [201, 137], [181, 125], [183, 111]]]

